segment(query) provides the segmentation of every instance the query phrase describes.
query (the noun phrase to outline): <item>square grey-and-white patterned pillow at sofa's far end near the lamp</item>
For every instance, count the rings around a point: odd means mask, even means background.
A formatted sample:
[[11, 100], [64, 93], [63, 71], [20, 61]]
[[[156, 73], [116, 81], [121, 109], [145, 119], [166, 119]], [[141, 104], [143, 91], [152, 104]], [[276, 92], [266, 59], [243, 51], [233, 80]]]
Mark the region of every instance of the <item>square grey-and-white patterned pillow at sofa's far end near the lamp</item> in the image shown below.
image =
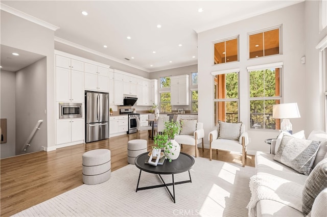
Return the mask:
[[309, 175], [318, 147], [319, 142], [317, 141], [301, 140], [284, 135], [274, 160], [299, 173]]

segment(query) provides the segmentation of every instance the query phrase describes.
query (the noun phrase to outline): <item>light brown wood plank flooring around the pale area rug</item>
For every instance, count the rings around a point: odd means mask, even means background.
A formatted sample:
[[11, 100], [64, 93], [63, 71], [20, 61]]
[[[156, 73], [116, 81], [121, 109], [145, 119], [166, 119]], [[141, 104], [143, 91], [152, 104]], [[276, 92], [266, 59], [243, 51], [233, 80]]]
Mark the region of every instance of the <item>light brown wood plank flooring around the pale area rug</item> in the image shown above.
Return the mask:
[[[133, 139], [136, 139], [136, 133], [1, 159], [1, 216], [13, 215], [83, 184], [82, 155], [86, 151], [109, 149], [111, 171], [128, 165], [127, 142]], [[148, 140], [150, 151], [154, 144], [147, 132], [142, 132], [139, 139]], [[181, 151], [194, 156], [194, 146], [183, 145]], [[219, 160], [241, 165], [239, 155], [223, 151], [218, 155]], [[209, 158], [209, 149], [202, 152], [199, 148], [199, 156]], [[218, 159], [216, 151], [213, 159]], [[254, 167], [253, 155], [247, 156], [246, 165]]]

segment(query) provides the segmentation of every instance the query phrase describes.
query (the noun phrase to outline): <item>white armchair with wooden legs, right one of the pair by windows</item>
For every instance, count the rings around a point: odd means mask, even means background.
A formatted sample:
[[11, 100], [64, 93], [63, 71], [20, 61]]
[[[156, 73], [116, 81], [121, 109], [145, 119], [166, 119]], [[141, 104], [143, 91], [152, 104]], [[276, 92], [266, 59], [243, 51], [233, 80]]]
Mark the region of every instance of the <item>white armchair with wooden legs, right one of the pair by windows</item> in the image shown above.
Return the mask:
[[242, 154], [242, 166], [245, 167], [246, 147], [249, 144], [248, 133], [245, 126], [240, 123], [226, 123], [218, 121], [217, 129], [209, 132], [210, 160], [212, 160], [212, 150], [237, 152]]

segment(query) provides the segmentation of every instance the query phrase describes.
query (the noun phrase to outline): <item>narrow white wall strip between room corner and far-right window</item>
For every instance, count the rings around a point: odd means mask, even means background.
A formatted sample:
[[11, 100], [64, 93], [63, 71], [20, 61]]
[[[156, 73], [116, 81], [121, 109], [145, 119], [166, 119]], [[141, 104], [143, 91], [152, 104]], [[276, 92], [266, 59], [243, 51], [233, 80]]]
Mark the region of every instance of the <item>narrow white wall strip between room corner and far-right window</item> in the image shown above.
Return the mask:
[[323, 76], [319, 68], [319, 50], [316, 45], [327, 35], [327, 29], [319, 32], [319, 1], [305, 2], [306, 37], [306, 126], [307, 133], [313, 129], [324, 130], [323, 122]]

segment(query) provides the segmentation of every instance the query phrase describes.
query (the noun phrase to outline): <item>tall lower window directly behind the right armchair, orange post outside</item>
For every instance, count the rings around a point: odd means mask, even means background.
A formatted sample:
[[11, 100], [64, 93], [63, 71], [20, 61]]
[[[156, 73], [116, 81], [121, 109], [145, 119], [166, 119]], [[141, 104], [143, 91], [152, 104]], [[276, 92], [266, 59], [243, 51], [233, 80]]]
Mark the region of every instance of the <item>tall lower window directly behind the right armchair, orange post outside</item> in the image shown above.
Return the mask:
[[239, 70], [214, 74], [215, 126], [218, 121], [239, 122]]

